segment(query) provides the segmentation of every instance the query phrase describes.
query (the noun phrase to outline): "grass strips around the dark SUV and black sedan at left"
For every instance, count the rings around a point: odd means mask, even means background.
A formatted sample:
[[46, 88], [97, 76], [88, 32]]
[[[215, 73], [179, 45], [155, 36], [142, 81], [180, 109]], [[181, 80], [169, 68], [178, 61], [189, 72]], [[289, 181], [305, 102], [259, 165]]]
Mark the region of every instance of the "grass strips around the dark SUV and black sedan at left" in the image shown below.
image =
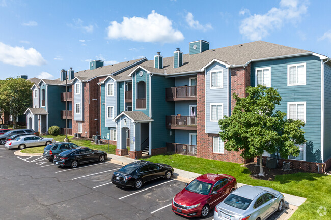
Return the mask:
[[[59, 135], [59, 136], [44, 135], [42, 137], [54, 138], [54, 140], [56, 140], [56, 141], [63, 141], [65, 138], [65, 135]], [[73, 136], [68, 136], [68, 138], [69, 138], [69, 142], [77, 144], [78, 146], [89, 147], [94, 150], [103, 150], [107, 153], [115, 154], [115, 149], [116, 149], [115, 145], [109, 144], [109, 152], [108, 152], [108, 144], [104, 144], [104, 145], [92, 144], [91, 141], [89, 141], [89, 140], [72, 139]], [[44, 146], [30, 147], [30, 148], [26, 148], [26, 149], [22, 150], [21, 152], [22, 153], [43, 153], [43, 150], [44, 150]]]

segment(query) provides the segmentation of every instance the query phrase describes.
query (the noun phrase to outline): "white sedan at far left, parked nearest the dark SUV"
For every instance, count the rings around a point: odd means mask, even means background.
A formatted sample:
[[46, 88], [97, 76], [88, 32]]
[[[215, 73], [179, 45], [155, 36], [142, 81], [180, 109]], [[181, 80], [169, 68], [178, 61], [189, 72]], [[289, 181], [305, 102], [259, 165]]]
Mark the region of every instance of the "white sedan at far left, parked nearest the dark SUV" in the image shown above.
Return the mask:
[[17, 137], [12, 141], [7, 141], [5, 147], [18, 148], [22, 150], [25, 147], [47, 146], [53, 142], [55, 142], [53, 138], [42, 138], [35, 135], [26, 135]]

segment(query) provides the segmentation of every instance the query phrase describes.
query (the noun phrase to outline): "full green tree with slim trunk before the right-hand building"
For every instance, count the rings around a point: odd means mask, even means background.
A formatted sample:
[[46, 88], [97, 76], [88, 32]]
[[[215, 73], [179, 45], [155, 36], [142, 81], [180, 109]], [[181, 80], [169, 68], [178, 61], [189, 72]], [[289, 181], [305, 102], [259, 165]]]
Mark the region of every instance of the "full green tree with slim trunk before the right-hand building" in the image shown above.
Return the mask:
[[263, 152], [279, 152], [283, 158], [298, 156], [298, 145], [306, 142], [305, 132], [300, 129], [305, 123], [285, 119], [286, 113], [275, 111], [275, 106], [282, 101], [276, 89], [249, 86], [246, 93], [245, 98], [233, 94], [236, 105], [230, 117], [219, 120], [219, 136], [226, 141], [226, 150], [241, 151], [240, 155], [245, 159], [259, 156], [259, 176], [264, 176]]

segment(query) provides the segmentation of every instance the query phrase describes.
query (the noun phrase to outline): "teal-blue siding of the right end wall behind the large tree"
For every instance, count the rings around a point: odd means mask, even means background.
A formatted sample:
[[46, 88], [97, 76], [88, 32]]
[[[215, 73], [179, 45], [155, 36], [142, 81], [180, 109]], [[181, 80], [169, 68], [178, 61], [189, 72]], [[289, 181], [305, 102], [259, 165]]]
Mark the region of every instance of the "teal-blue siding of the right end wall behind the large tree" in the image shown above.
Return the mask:
[[[287, 65], [306, 62], [306, 85], [287, 86]], [[276, 110], [287, 113], [287, 102], [306, 102], [306, 161], [321, 162], [321, 62], [316, 56], [268, 60], [251, 64], [251, 85], [255, 68], [271, 67], [271, 87], [282, 97]]]

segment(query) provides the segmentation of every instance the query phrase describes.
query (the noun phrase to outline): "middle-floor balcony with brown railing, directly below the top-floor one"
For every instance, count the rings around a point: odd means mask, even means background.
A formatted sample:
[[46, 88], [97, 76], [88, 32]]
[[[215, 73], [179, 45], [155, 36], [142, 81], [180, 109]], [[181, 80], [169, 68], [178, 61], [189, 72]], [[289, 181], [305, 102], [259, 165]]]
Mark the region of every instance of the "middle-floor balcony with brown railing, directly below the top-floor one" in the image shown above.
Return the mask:
[[167, 129], [197, 130], [197, 116], [166, 116]]

